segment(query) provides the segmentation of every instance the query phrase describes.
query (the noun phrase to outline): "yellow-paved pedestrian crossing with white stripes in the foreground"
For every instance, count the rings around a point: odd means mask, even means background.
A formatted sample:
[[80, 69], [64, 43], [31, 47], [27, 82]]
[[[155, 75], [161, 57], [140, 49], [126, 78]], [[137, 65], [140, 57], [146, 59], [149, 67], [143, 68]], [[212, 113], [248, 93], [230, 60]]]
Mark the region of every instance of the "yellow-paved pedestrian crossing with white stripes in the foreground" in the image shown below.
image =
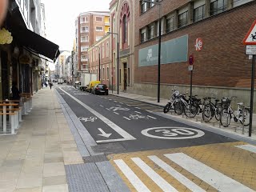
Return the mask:
[[256, 146], [246, 142], [110, 154], [107, 158], [131, 191], [256, 190]]

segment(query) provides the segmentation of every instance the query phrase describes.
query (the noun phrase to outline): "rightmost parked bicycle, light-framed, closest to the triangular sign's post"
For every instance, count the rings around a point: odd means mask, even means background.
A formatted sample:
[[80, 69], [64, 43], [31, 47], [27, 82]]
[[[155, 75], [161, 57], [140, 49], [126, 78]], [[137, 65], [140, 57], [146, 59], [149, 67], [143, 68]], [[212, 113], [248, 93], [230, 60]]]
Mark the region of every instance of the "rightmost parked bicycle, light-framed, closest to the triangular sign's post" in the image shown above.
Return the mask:
[[233, 116], [234, 122], [241, 122], [244, 126], [249, 126], [250, 124], [250, 110], [249, 108], [245, 107], [242, 102], [238, 103], [238, 110], [237, 114], [230, 106], [230, 103], [233, 98], [222, 98], [222, 110], [220, 112], [220, 122], [222, 126], [227, 127], [230, 125], [230, 120]]

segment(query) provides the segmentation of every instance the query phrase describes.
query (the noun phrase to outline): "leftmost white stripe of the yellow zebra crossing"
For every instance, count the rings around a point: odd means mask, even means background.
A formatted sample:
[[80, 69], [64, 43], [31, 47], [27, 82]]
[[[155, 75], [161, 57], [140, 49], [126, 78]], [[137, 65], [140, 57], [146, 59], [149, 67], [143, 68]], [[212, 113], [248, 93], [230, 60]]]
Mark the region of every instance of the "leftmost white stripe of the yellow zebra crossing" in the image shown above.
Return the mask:
[[126, 175], [126, 178], [130, 181], [130, 183], [134, 186], [138, 192], [150, 192], [150, 190], [144, 185], [144, 183], [134, 174], [134, 171], [130, 169], [129, 166], [126, 165], [122, 159], [114, 160], [115, 164], [117, 164], [118, 168], [122, 171], [123, 174]]

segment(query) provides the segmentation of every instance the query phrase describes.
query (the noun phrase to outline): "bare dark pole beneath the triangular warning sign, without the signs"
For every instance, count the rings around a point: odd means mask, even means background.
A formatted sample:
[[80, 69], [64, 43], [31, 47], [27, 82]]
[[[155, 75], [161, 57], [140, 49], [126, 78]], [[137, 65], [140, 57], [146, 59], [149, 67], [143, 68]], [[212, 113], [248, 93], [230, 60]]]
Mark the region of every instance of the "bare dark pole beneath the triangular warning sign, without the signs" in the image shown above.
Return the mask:
[[253, 124], [253, 111], [254, 111], [254, 77], [255, 77], [255, 61], [256, 57], [253, 55], [253, 65], [251, 71], [251, 85], [250, 85], [250, 126], [249, 137], [251, 137], [252, 124]]

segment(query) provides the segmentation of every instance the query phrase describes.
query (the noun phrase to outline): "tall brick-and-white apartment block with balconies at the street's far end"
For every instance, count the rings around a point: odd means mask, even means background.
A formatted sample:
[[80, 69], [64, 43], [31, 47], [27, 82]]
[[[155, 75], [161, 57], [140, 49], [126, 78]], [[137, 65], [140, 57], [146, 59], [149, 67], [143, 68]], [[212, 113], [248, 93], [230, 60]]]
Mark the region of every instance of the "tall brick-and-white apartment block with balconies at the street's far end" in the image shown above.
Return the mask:
[[[108, 11], [90, 11], [79, 14], [75, 21], [76, 28], [76, 61], [79, 77], [81, 73], [89, 72], [88, 52], [90, 46], [98, 42], [110, 31], [110, 14]], [[78, 78], [79, 79], [79, 78]]]

